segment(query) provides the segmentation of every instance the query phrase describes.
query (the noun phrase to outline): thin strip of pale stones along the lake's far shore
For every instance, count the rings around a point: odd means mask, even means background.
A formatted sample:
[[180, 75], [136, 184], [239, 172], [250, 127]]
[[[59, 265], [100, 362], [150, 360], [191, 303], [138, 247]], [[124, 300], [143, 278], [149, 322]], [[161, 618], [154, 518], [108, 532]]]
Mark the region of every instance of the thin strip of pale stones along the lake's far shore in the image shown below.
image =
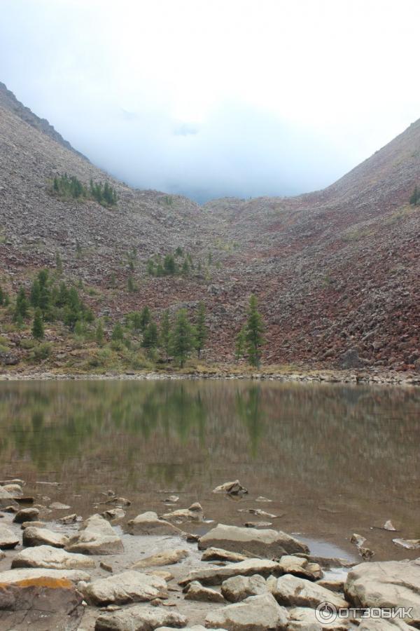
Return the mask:
[[320, 370], [307, 369], [296, 371], [271, 371], [269, 369], [260, 372], [239, 372], [227, 369], [208, 369], [206, 371], [192, 370], [191, 372], [3, 372], [0, 381], [70, 381], [70, 380], [144, 380], [144, 379], [251, 379], [256, 381], [285, 381], [303, 383], [325, 384], [372, 384], [379, 386], [420, 386], [420, 373], [395, 372], [395, 371], [367, 371], [367, 370]]

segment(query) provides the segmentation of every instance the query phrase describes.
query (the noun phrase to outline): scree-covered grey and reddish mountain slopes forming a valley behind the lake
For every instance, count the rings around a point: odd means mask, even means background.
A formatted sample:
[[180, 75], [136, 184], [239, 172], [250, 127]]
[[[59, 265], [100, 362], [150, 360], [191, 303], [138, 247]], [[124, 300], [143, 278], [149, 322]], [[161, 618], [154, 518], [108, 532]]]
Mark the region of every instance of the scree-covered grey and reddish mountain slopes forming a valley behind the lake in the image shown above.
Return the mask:
[[[194, 308], [203, 299], [207, 360], [232, 360], [255, 292], [267, 324], [266, 362], [332, 366], [347, 353], [355, 365], [418, 365], [420, 207], [408, 200], [420, 184], [420, 121], [324, 191], [200, 207], [117, 182], [47, 123], [22, 116], [25, 108], [10, 94], [1, 84], [0, 283], [6, 287], [29, 283], [34, 270], [55, 265], [58, 253], [66, 276], [89, 290], [96, 313], [118, 319], [145, 304], [159, 312]], [[110, 182], [117, 207], [51, 196], [52, 177], [63, 172], [86, 183]], [[149, 257], [178, 246], [193, 257], [187, 276], [148, 275]], [[130, 273], [137, 284], [131, 293]]]

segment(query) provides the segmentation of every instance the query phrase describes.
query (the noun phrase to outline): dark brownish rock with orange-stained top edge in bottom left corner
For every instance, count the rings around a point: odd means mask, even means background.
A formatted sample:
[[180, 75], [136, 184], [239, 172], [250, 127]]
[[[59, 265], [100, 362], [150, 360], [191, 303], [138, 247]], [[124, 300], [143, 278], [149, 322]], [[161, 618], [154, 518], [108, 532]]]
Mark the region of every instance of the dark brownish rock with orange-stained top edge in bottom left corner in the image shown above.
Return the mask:
[[0, 627], [10, 630], [76, 631], [83, 597], [68, 578], [27, 578], [2, 585]]

